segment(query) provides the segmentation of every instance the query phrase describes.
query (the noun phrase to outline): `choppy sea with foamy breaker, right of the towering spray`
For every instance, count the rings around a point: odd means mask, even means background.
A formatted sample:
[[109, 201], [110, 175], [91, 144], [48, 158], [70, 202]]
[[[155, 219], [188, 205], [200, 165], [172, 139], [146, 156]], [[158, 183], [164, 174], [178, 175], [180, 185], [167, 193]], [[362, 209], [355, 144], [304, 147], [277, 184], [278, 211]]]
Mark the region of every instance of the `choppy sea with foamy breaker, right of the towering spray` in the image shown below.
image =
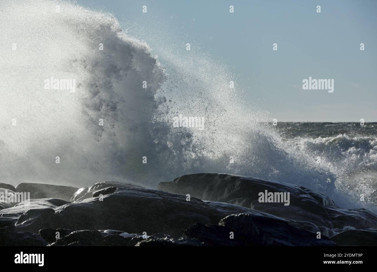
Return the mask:
[[[377, 197], [377, 123], [280, 123], [276, 131], [299, 152], [309, 152], [318, 165], [335, 174], [334, 194], [375, 203]], [[345, 204], [346, 205], [346, 204]]]

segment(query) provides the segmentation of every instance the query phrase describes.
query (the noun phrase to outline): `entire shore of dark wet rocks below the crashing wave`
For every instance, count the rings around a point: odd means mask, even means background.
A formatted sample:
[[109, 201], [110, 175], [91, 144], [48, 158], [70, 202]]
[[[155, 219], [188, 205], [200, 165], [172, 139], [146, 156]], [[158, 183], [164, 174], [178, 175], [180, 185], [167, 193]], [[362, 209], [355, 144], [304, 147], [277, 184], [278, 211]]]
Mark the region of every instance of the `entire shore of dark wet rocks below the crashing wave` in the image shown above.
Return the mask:
[[[0, 183], [30, 203], [0, 203], [2, 246], [376, 246], [377, 216], [288, 183], [192, 174], [158, 189]], [[259, 192], [289, 192], [290, 205]], [[190, 199], [188, 200], [188, 196]], [[319, 238], [320, 235], [320, 238]]]

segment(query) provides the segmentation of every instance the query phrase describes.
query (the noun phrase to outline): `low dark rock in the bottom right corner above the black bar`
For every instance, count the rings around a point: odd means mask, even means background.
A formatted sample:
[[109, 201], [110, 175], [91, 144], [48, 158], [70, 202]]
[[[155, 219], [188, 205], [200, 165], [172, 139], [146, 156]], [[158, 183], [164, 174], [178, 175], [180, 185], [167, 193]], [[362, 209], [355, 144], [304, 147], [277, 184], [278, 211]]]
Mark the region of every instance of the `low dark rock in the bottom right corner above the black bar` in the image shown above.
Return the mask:
[[349, 229], [331, 237], [338, 246], [377, 246], [377, 232]]

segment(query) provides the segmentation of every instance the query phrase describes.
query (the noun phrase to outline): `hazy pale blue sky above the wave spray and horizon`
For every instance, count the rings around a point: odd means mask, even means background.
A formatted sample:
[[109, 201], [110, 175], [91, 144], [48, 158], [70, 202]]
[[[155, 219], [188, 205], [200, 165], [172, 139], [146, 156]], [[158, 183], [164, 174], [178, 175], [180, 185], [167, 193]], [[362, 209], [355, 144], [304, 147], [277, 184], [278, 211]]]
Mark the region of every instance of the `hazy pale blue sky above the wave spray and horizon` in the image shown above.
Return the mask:
[[[130, 35], [145, 40], [156, 53], [162, 43], [187, 42], [210, 53], [230, 66], [251, 101], [278, 121], [377, 121], [377, 1], [77, 3], [114, 14]], [[143, 5], [147, 13], [142, 13]], [[302, 80], [310, 76], [334, 79], [334, 92], [303, 90]]]

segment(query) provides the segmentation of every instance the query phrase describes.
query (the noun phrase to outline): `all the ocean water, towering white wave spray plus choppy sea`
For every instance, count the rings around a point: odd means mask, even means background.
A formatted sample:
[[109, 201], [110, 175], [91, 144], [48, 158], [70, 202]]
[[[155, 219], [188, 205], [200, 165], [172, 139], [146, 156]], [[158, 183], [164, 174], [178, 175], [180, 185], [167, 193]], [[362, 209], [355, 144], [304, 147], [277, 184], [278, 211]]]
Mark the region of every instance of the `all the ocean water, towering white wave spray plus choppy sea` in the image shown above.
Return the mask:
[[[156, 56], [164, 48], [72, 2], [2, 1], [0, 18], [0, 182], [155, 187], [183, 174], [230, 173], [375, 209], [376, 124], [273, 126], [209, 55]], [[75, 92], [45, 89], [51, 77], [75, 79]], [[204, 117], [204, 128], [174, 127], [179, 115]]]

